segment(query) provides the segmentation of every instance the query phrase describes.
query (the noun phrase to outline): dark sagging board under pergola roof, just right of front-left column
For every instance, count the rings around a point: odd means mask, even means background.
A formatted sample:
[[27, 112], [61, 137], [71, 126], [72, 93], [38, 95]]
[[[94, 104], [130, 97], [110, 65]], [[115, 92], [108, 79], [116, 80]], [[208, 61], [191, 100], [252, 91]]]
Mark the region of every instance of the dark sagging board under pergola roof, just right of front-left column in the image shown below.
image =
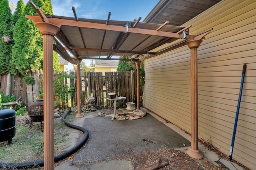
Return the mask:
[[70, 55], [67, 53], [66, 49], [60, 44], [60, 42], [54, 37], [54, 41], [56, 44], [54, 44], [53, 49], [56, 51], [60, 56], [65, 59], [66, 61], [72, 63], [72, 64], [79, 64], [79, 61], [76, 59], [73, 59], [70, 57]]

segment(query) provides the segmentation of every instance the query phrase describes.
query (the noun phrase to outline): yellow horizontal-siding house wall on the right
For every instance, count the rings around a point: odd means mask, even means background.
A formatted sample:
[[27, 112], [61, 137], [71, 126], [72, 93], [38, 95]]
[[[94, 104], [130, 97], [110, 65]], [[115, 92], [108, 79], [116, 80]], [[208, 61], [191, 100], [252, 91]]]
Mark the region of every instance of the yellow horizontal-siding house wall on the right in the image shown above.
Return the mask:
[[[198, 138], [229, 155], [243, 64], [246, 76], [233, 159], [256, 167], [256, 2], [222, 0], [188, 21], [213, 28], [198, 48]], [[190, 49], [147, 59], [144, 106], [190, 133]]]

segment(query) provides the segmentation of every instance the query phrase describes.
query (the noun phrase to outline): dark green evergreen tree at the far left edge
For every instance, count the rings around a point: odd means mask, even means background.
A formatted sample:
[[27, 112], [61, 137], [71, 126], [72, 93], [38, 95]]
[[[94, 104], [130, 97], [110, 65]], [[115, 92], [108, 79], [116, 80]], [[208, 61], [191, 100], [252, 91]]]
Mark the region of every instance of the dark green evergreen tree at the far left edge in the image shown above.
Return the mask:
[[10, 71], [10, 60], [13, 46], [12, 13], [8, 0], [0, 1], [0, 74]]

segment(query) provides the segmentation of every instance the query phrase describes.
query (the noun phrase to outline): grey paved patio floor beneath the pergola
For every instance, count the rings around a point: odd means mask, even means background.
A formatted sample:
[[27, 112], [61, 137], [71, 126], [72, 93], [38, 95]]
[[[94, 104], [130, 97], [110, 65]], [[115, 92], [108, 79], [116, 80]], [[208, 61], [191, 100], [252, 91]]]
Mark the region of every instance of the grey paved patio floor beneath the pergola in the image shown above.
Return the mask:
[[[146, 115], [135, 120], [111, 120], [112, 117], [98, 117], [99, 111], [83, 113], [84, 117], [74, 119], [73, 124], [86, 128], [89, 139], [72, 159], [60, 161], [55, 170], [134, 170], [131, 161], [115, 160], [115, 156], [129, 156], [149, 150], [158, 150], [164, 147], [178, 148], [184, 152], [190, 146], [190, 135], [172, 123], [167, 123], [154, 113], [146, 111]], [[124, 109], [124, 111], [126, 111]], [[126, 111], [130, 112], [130, 111]], [[67, 150], [74, 147], [81, 139], [77, 130], [70, 129], [70, 140]], [[148, 143], [142, 139], [157, 141]], [[216, 164], [218, 155], [198, 143], [198, 149], [204, 157]], [[225, 162], [230, 170], [242, 170], [242, 167]], [[234, 164], [234, 163], [233, 163]], [[217, 164], [216, 164], [217, 165]]]

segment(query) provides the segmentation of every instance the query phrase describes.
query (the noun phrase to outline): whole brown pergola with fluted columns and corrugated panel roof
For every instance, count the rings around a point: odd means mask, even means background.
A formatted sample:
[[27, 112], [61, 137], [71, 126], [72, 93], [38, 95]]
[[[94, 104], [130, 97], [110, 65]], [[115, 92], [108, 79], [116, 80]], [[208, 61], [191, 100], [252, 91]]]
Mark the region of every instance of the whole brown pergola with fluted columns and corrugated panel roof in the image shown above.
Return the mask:
[[[44, 14], [40, 8], [30, 0], [29, 3], [36, 10], [36, 16], [28, 16], [40, 33], [44, 42], [44, 167], [54, 169], [54, 118], [53, 118], [53, 51], [57, 51], [64, 59], [77, 65], [77, 101], [78, 114], [82, 117], [80, 104], [80, 62], [82, 59], [105, 59], [136, 61], [137, 65], [137, 110], [140, 106], [139, 68], [141, 61], [155, 57], [188, 45], [191, 49], [191, 147], [187, 154], [192, 158], [203, 157], [198, 150], [198, 120], [197, 120], [197, 48], [202, 43], [206, 30], [197, 35], [189, 35], [188, 27], [159, 25], [152, 23], [111, 21], [110, 13], [107, 20], [90, 20], [77, 18], [74, 7], [74, 18], [51, 16]], [[167, 48], [156, 51], [166, 43], [172, 43]], [[67, 52], [69, 51], [69, 53]], [[70, 55], [72, 54], [72, 55]], [[114, 58], [114, 56], [121, 56]], [[122, 56], [129, 56], [123, 59]], [[142, 57], [141, 57], [142, 56]], [[47, 99], [47, 100], [46, 100]]]

